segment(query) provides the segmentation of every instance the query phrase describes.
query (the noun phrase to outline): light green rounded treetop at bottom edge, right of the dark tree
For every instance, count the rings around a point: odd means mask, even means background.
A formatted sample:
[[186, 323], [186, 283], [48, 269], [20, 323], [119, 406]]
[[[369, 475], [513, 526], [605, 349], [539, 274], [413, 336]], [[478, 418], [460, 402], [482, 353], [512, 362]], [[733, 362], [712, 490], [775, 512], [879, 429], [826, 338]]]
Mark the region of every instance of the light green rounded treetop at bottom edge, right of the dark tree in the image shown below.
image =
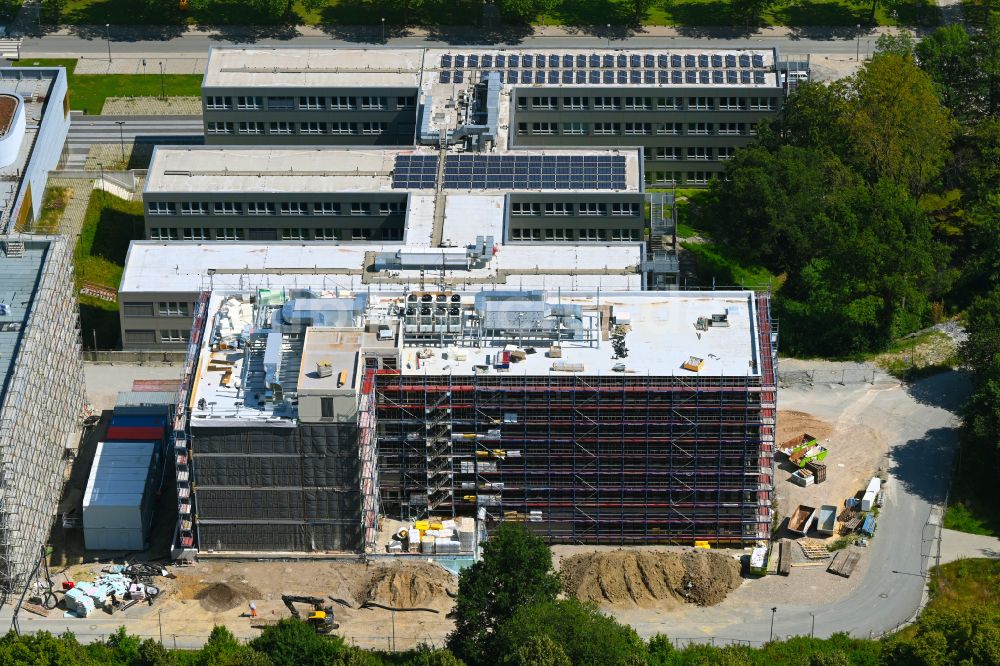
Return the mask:
[[646, 663], [646, 645], [635, 629], [602, 614], [597, 606], [576, 599], [519, 608], [500, 627], [497, 654], [515, 653], [532, 640], [537, 647], [543, 637], [562, 648], [574, 666]]

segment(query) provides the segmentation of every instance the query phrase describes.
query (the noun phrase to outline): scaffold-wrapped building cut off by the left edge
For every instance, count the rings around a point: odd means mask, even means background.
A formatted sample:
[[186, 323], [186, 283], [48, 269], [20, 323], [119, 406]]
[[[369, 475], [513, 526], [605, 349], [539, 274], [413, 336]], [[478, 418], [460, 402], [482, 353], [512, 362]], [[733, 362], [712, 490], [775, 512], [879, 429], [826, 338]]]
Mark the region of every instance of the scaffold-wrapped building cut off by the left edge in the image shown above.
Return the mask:
[[19, 593], [48, 540], [84, 403], [72, 248], [0, 236], [0, 591]]

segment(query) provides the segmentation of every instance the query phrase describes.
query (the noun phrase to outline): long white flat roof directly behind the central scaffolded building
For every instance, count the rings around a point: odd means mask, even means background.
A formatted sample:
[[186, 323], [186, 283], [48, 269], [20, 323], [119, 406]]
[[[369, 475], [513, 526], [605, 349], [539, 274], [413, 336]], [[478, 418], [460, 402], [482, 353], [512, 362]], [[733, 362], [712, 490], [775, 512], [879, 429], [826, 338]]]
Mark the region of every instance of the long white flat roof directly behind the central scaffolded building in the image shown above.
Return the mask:
[[[485, 229], [478, 229], [473, 225], [467, 233], [485, 235]], [[455, 230], [456, 235], [459, 231]], [[427, 274], [432, 271], [422, 274], [419, 270], [392, 271], [397, 276], [395, 286], [380, 281], [377, 276], [382, 274], [371, 274], [370, 283], [363, 281], [366, 253], [396, 252], [402, 247], [398, 243], [339, 245], [317, 241], [133, 241], [119, 291], [196, 293], [267, 286], [357, 289], [362, 285], [384, 290], [398, 289], [399, 282], [430, 281]], [[510, 288], [641, 290], [643, 276], [635, 267], [642, 261], [642, 250], [642, 243], [501, 245], [484, 268], [449, 270], [445, 277], [468, 280], [470, 285]], [[440, 271], [433, 273], [434, 278], [440, 276]]]

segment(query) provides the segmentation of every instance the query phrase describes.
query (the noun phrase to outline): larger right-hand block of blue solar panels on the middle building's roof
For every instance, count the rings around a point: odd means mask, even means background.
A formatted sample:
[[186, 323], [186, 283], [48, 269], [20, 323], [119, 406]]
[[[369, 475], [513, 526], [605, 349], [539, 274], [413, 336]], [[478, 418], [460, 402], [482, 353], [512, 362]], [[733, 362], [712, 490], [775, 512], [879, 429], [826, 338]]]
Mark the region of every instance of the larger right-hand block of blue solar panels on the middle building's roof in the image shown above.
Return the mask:
[[621, 155], [448, 155], [444, 187], [460, 190], [623, 190]]

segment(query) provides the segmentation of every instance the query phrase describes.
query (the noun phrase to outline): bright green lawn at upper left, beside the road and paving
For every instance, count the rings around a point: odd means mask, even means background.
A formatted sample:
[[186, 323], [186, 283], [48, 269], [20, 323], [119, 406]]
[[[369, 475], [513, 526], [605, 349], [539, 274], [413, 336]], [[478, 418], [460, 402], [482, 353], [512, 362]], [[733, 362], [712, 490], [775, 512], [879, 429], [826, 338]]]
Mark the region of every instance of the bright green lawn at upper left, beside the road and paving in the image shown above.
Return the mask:
[[[27, 58], [14, 61], [20, 67], [66, 68], [70, 107], [84, 113], [99, 114], [108, 97], [159, 97], [157, 74], [75, 74], [75, 59]], [[156, 68], [154, 65], [150, 71]], [[201, 74], [166, 74], [163, 91], [168, 97], [201, 97]]]

